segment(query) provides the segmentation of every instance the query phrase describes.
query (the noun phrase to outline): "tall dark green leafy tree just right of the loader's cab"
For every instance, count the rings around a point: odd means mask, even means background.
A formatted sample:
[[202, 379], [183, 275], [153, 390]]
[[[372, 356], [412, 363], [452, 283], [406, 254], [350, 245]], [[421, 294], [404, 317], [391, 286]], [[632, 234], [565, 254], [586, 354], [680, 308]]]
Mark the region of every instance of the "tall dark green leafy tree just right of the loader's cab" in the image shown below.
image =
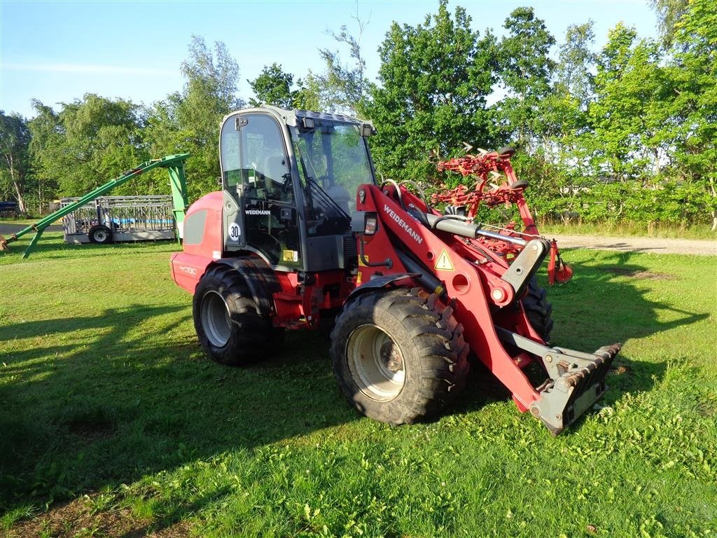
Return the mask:
[[495, 82], [495, 38], [482, 39], [470, 16], [447, 1], [423, 24], [391, 24], [379, 47], [379, 85], [368, 113], [378, 135], [372, 141], [381, 172], [395, 179], [435, 174], [429, 154], [448, 156], [463, 141], [490, 146], [486, 96]]

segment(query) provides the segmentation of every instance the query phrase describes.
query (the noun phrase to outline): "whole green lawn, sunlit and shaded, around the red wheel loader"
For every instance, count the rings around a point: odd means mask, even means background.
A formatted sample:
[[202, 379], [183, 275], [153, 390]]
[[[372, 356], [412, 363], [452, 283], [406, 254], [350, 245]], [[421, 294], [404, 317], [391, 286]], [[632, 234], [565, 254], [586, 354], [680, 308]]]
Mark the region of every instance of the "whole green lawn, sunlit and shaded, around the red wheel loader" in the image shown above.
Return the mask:
[[360, 417], [328, 339], [209, 362], [176, 245], [0, 255], [0, 534], [708, 537], [717, 532], [717, 259], [568, 251], [553, 342], [622, 341], [552, 438], [485, 372], [431, 423]]

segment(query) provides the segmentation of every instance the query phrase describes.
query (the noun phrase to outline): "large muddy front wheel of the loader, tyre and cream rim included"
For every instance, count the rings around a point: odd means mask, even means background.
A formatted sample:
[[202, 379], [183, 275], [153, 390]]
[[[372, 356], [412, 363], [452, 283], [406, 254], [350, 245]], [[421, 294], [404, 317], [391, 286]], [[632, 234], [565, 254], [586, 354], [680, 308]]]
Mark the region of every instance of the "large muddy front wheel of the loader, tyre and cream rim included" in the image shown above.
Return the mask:
[[465, 386], [463, 326], [419, 288], [351, 298], [331, 333], [333, 372], [359, 412], [391, 425], [435, 415]]

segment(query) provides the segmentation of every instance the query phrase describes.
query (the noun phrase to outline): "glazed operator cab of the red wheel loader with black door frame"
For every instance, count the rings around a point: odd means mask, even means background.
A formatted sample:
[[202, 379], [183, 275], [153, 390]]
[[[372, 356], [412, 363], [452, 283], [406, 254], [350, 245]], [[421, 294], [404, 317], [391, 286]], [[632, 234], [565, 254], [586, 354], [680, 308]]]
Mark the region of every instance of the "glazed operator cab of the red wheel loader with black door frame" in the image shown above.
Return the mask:
[[228, 256], [277, 269], [356, 265], [356, 190], [375, 184], [371, 123], [338, 114], [247, 108], [222, 123], [223, 235]]

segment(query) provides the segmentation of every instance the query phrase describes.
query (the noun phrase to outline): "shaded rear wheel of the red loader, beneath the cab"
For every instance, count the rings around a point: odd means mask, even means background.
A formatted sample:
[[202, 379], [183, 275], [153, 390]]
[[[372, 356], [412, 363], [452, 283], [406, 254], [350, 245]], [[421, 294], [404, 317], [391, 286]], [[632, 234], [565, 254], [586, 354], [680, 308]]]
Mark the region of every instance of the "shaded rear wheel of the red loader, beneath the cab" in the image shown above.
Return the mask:
[[229, 266], [209, 269], [192, 303], [194, 329], [210, 359], [239, 366], [275, 351], [281, 331], [261, 313], [242, 275]]

